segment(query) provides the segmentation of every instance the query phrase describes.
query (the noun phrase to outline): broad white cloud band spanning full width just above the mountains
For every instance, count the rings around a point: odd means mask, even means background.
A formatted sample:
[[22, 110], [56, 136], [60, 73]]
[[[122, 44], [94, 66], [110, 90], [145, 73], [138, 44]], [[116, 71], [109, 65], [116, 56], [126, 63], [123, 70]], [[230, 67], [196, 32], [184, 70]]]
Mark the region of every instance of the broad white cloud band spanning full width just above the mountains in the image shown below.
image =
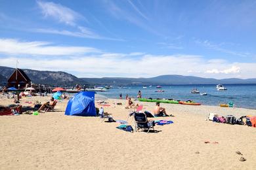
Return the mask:
[[16, 59], [20, 61], [20, 68], [66, 71], [79, 77], [152, 77], [170, 74], [212, 78], [256, 77], [256, 63], [207, 60], [203, 56], [186, 54], [157, 56], [141, 52], [102, 52], [88, 47], [53, 46], [49, 42], [0, 39], [0, 65], [15, 67], [13, 63]]

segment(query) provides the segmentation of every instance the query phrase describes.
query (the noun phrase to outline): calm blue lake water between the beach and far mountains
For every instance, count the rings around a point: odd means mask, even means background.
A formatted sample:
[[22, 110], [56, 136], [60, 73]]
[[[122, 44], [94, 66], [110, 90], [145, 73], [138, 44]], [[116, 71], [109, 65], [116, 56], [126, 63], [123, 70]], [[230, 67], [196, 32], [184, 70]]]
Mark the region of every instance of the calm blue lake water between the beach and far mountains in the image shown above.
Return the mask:
[[[256, 84], [223, 84], [228, 90], [218, 91], [216, 85], [173, 85], [162, 86], [161, 90], [165, 92], [155, 92], [158, 90], [156, 86], [152, 88], [142, 88], [142, 86], [129, 86], [123, 88], [111, 88], [108, 92], [97, 92], [98, 94], [106, 95], [109, 98], [118, 98], [122, 93], [123, 98], [128, 94], [131, 97], [137, 97], [140, 90], [142, 97], [177, 99], [186, 101], [188, 99], [202, 103], [202, 105], [219, 105], [220, 103], [234, 102], [236, 107], [256, 109]], [[193, 88], [197, 88], [200, 95], [190, 93]]]

